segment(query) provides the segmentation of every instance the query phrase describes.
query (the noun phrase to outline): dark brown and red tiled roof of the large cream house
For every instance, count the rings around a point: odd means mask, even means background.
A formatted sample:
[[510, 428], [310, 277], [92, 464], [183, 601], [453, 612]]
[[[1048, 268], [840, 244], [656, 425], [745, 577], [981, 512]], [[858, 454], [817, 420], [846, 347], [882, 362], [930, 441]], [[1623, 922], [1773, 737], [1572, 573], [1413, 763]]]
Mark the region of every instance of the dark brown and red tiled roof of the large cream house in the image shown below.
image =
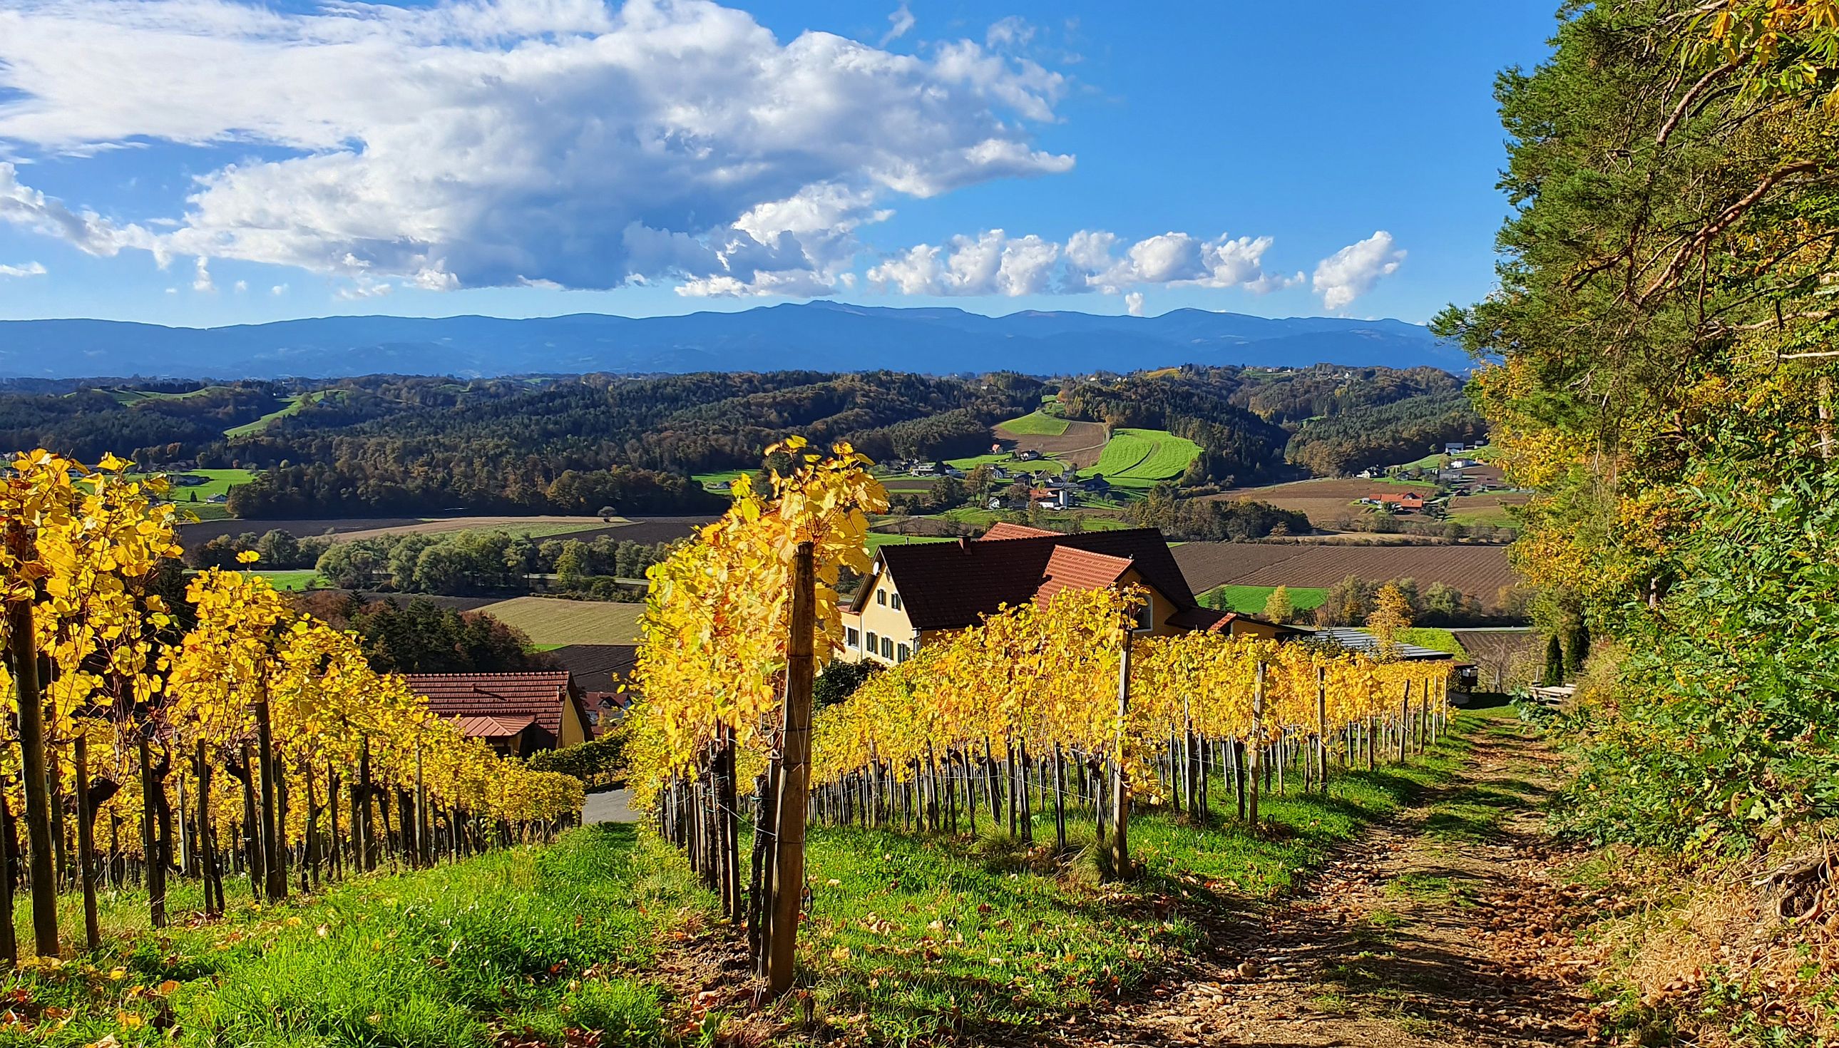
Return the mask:
[[[914, 629], [962, 629], [1002, 605], [1046, 599], [1067, 588], [1109, 587], [1135, 568], [1175, 609], [1194, 592], [1155, 528], [1061, 535], [997, 524], [978, 541], [883, 546], [877, 561], [894, 577]], [[870, 581], [857, 590], [861, 610]]]

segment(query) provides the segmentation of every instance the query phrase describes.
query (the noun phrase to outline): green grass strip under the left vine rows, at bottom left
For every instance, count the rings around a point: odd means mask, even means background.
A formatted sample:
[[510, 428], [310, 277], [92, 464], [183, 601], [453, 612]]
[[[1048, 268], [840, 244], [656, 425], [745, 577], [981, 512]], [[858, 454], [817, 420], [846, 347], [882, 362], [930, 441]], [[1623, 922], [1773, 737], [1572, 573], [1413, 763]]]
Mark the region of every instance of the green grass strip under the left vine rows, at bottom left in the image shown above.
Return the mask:
[[[662, 1044], [666, 995], [647, 973], [673, 934], [710, 917], [682, 859], [631, 826], [276, 906], [224, 888], [228, 917], [200, 923], [186, 912], [197, 886], [180, 883], [158, 936], [143, 895], [105, 894], [99, 954], [0, 982], [26, 1024], [0, 1044], [487, 1048], [524, 1028], [561, 1044], [570, 1026]], [[70, 895], [63, 927], [81, 936], [75, 906]], [[15, 925], [29, 943], [24, 899]]]

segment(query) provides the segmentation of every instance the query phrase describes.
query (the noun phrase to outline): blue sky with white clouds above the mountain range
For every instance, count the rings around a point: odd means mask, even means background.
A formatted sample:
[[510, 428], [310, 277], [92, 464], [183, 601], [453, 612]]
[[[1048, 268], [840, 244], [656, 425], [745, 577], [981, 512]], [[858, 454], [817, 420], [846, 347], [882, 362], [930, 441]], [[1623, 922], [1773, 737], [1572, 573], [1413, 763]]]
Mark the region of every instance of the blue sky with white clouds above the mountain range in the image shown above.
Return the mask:
[[1552, 9], [0, 0], [0, 318], [1422, 322]]

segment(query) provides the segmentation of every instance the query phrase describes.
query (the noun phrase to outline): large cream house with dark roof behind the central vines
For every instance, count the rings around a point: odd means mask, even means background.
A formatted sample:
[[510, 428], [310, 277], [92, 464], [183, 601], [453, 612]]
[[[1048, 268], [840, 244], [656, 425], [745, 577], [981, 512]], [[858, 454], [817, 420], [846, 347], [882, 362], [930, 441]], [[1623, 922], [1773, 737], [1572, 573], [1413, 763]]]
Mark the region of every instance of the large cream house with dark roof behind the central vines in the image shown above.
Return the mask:
[[1067, 587], [1138, 583], [1149, 592], [1142, 634], [1216, 631], [1300, 636], [1306, 631], [1205, 609], [1157, 528], [1061, 535], [997, 524], [982, 539], [888, 544], [842, 609], [844, 662], [907, 662], [940, 632], [977, 625], [1004, 605], [1046, 603]]

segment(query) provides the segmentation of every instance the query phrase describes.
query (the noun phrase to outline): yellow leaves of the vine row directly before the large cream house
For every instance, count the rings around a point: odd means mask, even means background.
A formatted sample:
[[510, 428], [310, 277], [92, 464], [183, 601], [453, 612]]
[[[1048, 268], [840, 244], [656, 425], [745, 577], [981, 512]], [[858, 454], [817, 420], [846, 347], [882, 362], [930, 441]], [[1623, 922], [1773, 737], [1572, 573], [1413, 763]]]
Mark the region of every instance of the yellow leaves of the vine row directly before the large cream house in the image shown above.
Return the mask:
[[[1317, 728], [1317, 682], [1328, 730], [1442, 702], [1447, 662], [1379, 662], [1366, 655], [1251, 636], [1186, 632], [1133, 638], [1138, 594], [1061, 590], [958, 631], [872, 677], [813, 724], [813, 781], [877, 761], [896, 769], [947, 748], [995, 739], [1045, 754], [1056, 745], [1122, 761], [1137, 789], [1153, 789], [1148, 758], [1171, 734], [1263, 741]], [[1118, 673], [1131, 645], [1129, 702], [1118, 717]], [[1254, 713], [1254, 697], [1262, 708]]]

